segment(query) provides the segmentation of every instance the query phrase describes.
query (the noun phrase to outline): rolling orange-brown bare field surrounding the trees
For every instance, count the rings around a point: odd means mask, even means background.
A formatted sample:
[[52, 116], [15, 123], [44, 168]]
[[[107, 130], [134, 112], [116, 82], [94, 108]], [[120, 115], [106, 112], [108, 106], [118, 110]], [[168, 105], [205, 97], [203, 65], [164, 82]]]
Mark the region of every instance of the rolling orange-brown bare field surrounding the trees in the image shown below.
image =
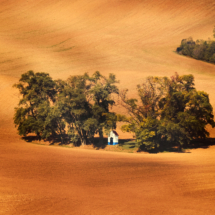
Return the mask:
[[28, 70], [98, 70], [135, 95], [145, 77], [178, 72], [215, 107], [215, 65], [174, 52], [183, 38], [212, 38], [214, 25], [214, 0], [1, 0], [0, 214], [215, 214], [215, 146], [126, 154], [27, 143], [12, 88]]

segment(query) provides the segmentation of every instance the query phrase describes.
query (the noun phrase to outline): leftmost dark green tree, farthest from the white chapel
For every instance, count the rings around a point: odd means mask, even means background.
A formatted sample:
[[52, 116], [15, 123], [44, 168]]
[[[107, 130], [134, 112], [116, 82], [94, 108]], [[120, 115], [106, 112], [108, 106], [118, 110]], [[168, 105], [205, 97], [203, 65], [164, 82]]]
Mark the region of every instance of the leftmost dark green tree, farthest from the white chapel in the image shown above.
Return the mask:
[[22, 99], [15, 108], [14, 123], [20, 135], [35, 133], [39, 138], [45, 134], [45, 122], [51, 103], [55, 101], [55, 82], [46, 73], [29, 71], [21, 76], [18, 84]]

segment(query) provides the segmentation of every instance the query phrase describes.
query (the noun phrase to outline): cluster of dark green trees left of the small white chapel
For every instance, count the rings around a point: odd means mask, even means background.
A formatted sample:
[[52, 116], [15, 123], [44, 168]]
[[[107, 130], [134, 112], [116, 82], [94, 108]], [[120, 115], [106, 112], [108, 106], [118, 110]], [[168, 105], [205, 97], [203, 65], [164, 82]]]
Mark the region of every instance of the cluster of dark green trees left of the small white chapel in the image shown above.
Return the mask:
[[95, 72], [52, 80], [49, 74], [29, 71], [14, 86], [22, 96], [15, 108], [14, 123], [19, 135], [34, 133], [39, 139], [60, 137], [60, 141], [86, 144], [96, 133], [116, 127], [110, 111], [118, 94], [115, 75]]

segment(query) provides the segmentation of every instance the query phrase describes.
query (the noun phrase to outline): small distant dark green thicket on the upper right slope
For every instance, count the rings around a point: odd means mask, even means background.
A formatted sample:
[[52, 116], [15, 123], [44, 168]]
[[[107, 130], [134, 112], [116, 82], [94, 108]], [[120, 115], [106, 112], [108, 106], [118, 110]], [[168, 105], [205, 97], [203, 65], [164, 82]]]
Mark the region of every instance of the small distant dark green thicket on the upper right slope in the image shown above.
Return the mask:
[[[215, 38], [215, 28], [213, 30]], [[197, 40], [193, 41], [190, 37], [181, 41], [180, 47], [176, 49], [177, 53], [190, 56], [192, 58], [215, 63], [215, 41]]]

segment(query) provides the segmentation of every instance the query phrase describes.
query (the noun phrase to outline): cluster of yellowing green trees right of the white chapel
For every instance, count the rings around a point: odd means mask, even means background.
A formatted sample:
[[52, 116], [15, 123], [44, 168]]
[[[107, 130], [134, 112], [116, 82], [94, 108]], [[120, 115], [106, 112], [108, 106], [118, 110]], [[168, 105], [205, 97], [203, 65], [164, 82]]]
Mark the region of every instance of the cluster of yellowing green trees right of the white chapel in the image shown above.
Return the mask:
[[129, 116], [118, 115], [126, 132], [133, 132], [136, 141], [147, 150], [162, 150], [208, 137], [206, 125], [213, 127], [213, 108], [208, 94], [194, 88], [192, 75], [171, 78], [148, 77], [137, 86], [138, 99], [120, 93], [121, 103]]

